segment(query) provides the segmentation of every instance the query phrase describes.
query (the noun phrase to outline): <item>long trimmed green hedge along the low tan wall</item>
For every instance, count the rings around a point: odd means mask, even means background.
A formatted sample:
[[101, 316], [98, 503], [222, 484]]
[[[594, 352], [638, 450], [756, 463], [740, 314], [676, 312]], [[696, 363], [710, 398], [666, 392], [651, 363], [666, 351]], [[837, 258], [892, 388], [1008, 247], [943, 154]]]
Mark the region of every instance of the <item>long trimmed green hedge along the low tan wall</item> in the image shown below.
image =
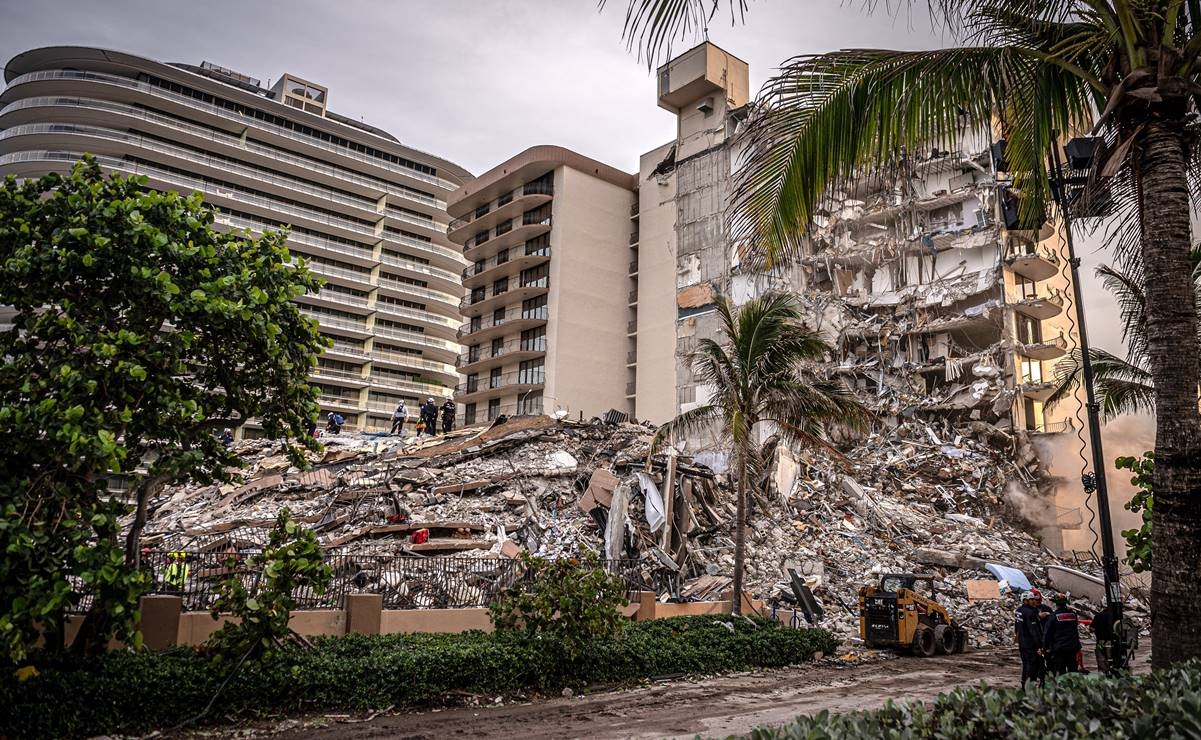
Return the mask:
[[[436, 704], [452, 692], [497, 696], [555, 691], [679, 673], [779, 667], [831, 652], [824, 629], [712, 616], [631, 622], [575, 661], [551, 639], [464, 634], [349, 635], [289, 648], [247, 664], [209, 721], [232, 715], [371, 710]], [[0, 679], [0, 738], [89, 736], [171, 728], [198, 715], [225, 680], [191, 649], [113, 652], [96, 660], [43, 660], [38, 675]]]

